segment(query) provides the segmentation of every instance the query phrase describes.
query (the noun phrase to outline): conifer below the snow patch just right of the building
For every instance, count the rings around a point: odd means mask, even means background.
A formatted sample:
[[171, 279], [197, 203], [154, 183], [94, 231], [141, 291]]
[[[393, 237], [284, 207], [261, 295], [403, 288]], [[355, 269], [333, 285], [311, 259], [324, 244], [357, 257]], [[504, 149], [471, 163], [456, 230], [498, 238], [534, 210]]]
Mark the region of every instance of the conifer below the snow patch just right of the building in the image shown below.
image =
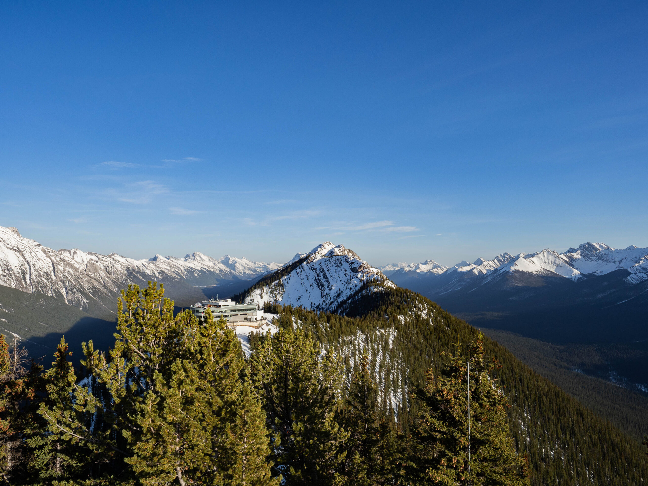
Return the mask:
[[332, 349], [322, 354], [303, 330], [279, 329], [260, 340], [249, 361], [273, 432], [273, 468], [287, 485], [333, 485], [347, 434], [336, 421], [343, 381]]

